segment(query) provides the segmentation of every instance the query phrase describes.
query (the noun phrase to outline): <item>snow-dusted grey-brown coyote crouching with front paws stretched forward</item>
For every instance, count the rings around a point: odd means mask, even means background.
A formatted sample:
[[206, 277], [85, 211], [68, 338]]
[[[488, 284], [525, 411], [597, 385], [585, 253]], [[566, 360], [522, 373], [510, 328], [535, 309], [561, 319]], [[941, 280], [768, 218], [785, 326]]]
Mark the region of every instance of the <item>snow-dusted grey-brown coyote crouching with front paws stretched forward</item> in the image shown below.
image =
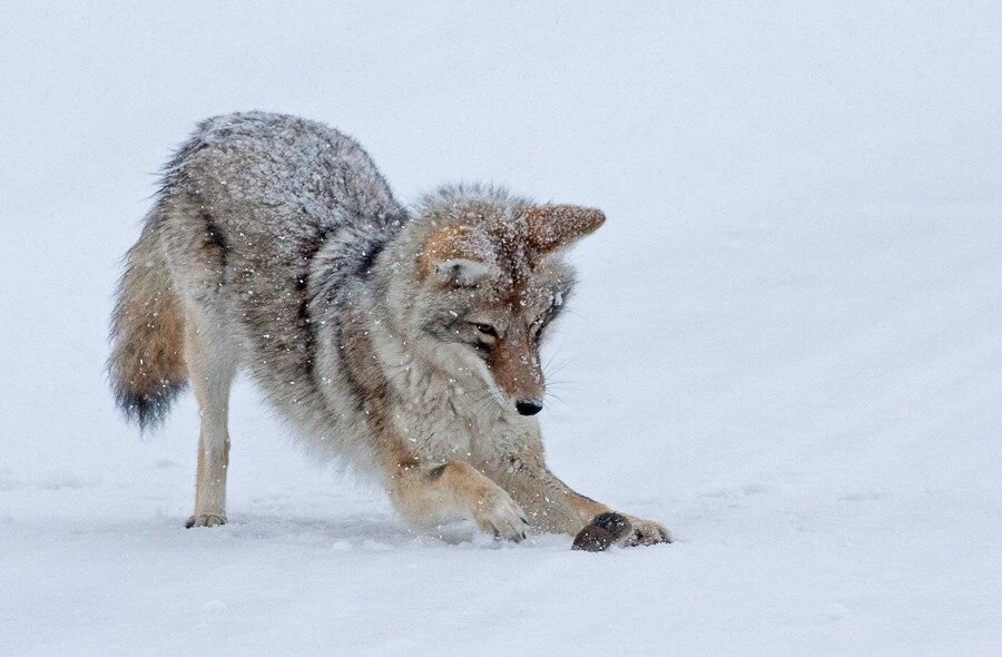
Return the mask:
[[[167, 164], [126, 256], [117, 403], [156, 425], [191, 383], [202, 432], [188, 527], [226, 522], [229, 388], [246, 369], [313, 451], [376, 478], [412, 526], [576, 535], [609, 508], [547, 469], [539, 346], [574, 284], [561, 253], [603, 220], [477, 185], [405, 208], [337, 130], [210, 118]], [[670, 540], [618, 518], [623, 545]]]

